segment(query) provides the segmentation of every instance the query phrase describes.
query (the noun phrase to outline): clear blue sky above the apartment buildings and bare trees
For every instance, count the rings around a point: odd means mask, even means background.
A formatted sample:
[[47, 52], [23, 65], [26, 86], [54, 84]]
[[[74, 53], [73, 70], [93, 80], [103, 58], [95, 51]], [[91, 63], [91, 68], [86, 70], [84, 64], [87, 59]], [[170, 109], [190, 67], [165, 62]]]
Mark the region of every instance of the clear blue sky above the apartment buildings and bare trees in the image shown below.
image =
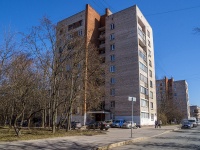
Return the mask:
[[200, 0], [0, 0], [0, 40], [9, 28], [27, 32], [43, 16], [57, 23], [86, 4], [99, 14], [137, 5], [153, 29], [156, 79], [186, 80], [190, 105], [200, 106]]

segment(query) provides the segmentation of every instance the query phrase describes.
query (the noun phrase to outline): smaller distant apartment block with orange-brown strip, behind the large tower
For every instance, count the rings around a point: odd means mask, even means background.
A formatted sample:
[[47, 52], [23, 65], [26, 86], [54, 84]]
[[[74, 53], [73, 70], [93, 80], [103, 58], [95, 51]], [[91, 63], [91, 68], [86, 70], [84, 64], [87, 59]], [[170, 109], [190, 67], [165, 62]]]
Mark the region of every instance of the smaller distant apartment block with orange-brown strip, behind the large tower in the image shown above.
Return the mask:
[[156, 80], [157, 107], [169, 102], [172, 107], [182, 113], [184, 118], [190, 117], [188, 84], [185, 80], [174, 81], [173, 78]]

